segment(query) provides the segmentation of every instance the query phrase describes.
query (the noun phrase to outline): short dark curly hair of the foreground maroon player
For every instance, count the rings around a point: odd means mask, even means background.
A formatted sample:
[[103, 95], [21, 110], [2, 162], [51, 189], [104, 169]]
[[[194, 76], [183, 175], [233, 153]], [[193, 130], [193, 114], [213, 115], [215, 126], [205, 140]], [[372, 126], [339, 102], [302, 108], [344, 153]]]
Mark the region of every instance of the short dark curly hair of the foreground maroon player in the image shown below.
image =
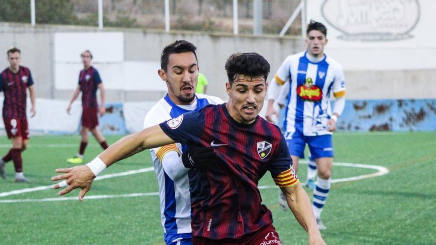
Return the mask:
[[265, 78], [270, 73], [270, 63], [259, 53], [233, 53], [227, 58], [224, 66], [230, 85], [239, 75]]

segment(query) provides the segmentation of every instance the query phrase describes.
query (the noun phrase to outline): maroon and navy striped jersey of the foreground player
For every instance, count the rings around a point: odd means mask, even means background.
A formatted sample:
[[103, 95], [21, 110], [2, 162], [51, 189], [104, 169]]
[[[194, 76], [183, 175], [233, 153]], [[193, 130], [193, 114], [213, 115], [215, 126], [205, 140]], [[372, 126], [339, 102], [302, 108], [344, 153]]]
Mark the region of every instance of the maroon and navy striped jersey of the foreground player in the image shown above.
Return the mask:
[[171, 139], [186, 145], [214, 147], [218, 166], [191, 169], [192, 234], [210, 239], [241, 238], [272, 224], [262, 204], [259, 180], [292, 170], [291, 157], [279, 128], [257, 117], [240, 124], [225, 104], [183, 114], [160, 124]]

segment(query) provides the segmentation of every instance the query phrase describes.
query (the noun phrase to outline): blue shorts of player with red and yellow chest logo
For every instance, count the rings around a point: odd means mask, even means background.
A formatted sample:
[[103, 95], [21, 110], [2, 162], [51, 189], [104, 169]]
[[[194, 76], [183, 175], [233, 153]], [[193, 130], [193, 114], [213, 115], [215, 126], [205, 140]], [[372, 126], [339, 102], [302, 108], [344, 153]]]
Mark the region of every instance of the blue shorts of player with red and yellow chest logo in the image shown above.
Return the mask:
[[292, 139], [286, 140], [289, 154], [304, 159], [304, 147], [309, 146], [312, 159], [321, 157], [333, 157], [333, 144], [331, 135], [303, 136], [298, 133], [292, 135]]

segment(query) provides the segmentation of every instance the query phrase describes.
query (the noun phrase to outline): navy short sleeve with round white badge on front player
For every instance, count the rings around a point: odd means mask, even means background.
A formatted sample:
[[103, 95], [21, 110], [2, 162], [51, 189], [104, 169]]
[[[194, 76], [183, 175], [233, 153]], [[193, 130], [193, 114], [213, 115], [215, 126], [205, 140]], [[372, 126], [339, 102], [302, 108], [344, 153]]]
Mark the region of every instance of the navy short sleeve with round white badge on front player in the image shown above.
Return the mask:
[[200, 143], [200, 135], [204, 128], [205, 118], [203, 109], [182, 114], [159, 124], [163, 132], [171, 139], [182, 145]]

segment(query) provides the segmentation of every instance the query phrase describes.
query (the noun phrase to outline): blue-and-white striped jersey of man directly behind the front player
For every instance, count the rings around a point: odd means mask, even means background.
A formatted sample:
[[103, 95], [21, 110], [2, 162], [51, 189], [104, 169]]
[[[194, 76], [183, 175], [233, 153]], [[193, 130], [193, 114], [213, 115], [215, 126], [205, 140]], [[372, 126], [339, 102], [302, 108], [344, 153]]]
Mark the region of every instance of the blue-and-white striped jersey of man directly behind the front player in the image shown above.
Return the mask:
[[[196, 94], [195, 103], [179, 106], [166, 95], [147, 113], [144, 128], [176, 118], [191, 110], [199, 110], [208, 104], [221, 103], [223, 101], [218, 97]], [[191, 233], [191, 196], [187, 175], [189, 169], [183, 167], [178, 157], [182, 148], [177, 143], [150, 149], [159, 183], [161, 222], [166, 234]]]

